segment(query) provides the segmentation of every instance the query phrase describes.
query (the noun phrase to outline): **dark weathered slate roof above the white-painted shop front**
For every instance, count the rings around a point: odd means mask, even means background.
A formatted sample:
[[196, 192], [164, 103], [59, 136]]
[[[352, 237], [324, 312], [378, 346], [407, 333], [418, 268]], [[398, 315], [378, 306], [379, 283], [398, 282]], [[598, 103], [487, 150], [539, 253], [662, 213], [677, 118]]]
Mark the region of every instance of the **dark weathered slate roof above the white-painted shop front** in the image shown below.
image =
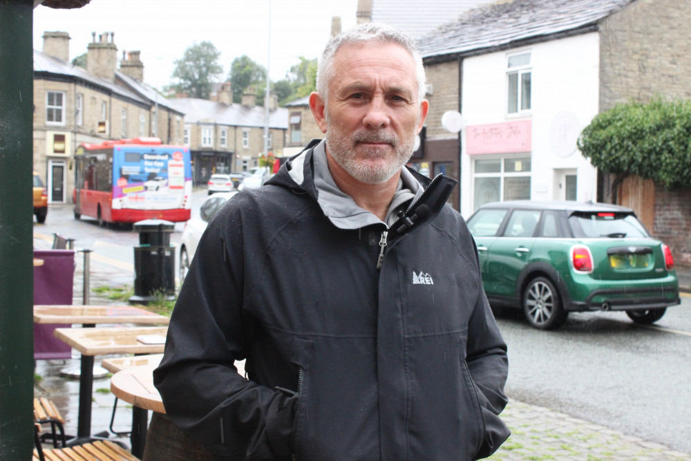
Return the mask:
[[417, 46], [423, 58], [489, 53], [512, 45], [594, 30], [599, 21], [634, 1], [513, 0], [493, 3], [469, 10], [455, 21], [444, 24], [420, 38]]

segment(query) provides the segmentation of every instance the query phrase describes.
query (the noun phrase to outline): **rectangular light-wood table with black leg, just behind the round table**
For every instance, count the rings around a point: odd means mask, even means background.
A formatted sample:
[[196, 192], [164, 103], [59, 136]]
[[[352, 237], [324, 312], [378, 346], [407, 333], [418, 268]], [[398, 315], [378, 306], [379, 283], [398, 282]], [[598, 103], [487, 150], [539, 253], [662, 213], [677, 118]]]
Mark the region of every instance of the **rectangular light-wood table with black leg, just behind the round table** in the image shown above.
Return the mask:
[[[79, 416], [77, 437], [68, 444], [79, 444], [95, 440], [91, 436], [91, 400], [93, 395], [93, 362], [95, 355], [108, 354], [156, 354], [163, 352], [164, 342], [144, 344], [138, 337], [153, 336], [165, 338], [168, 327], [91, 327], [56, 328], [57, 339], [69, 344], [82, 354], [79, 375]], [[134, 447], [133, 447], [134, 449]]]

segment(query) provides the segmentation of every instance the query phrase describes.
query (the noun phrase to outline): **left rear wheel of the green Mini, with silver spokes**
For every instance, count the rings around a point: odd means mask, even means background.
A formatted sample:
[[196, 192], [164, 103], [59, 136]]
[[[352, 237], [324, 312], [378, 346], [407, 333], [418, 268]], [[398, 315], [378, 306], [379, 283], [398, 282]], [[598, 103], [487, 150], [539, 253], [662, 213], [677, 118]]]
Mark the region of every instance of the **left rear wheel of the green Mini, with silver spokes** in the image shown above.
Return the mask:
[[536, 277], [523, 292], [523, 312], [531, 326], [540, 330], [559, 328], [569, 314], [562, 308], [554, 284], [545, 277]]

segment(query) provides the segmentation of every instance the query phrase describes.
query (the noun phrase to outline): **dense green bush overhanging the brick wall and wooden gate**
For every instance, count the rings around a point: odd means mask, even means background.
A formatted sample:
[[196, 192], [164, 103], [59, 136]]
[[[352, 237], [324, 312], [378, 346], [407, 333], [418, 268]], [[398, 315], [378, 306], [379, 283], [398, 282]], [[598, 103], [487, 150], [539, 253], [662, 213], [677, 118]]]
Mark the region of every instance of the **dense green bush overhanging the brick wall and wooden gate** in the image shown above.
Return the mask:
[[670, 189], [691, 186], [691, 100], [617, 104], [585, 127], [578, 149], [614, 175], [612, 191], [630, 175]]

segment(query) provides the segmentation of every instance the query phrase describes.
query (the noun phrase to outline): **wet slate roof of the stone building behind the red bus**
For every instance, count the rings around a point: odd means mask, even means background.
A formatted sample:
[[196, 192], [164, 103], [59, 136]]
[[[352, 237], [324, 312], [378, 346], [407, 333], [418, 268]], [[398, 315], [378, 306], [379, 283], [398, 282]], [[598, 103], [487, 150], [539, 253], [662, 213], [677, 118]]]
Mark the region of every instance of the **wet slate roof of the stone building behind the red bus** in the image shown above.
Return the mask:
[[[86, 72], [84, 68], [73, 66], [72, 64], [68, 64], [61, 59], [57, 59], [57, 57], [46, 55], [38, 50], [34, 50], [34, 72], [81, 79], [88, 84], [100, 86], [109, 93], [124, 97], [133, 102], [138, 102], [143, 106], [151, 106], [155, 104], [156, 100], [156, 93], [153, 88], [143, 84], [142, 82], [137, 82], [135, 79], [131, 79], [127, 75], [124, 75], [124, 73], [120, 72], [120, 70], [115, 70], [115, 75], [118, 79], [121, 79], [123, 82], [125, 82], [129, 88], [117, 85], [115, 82], [111, 82], [110, 80], [92, 75]], [[158, 105], [168, 109], [177, 110], [172, 106], [172, 104], [167, 102], [163, 95], [158, 96]]]

